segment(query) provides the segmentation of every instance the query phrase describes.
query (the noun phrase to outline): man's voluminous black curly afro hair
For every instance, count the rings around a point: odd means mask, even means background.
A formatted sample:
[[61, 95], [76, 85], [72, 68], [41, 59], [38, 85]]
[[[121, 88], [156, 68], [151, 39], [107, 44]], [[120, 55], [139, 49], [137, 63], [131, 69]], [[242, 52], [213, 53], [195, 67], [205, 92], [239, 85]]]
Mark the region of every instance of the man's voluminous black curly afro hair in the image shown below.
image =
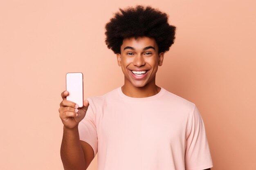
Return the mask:
[[124, 38], [154, 38], [158, 53], [166, 52], [174, 43], [176, 27], [168, 24], [168, 15], [150, 6], [128, 7], [106, 24], [106, 44], [115, 54], [121, 53]]

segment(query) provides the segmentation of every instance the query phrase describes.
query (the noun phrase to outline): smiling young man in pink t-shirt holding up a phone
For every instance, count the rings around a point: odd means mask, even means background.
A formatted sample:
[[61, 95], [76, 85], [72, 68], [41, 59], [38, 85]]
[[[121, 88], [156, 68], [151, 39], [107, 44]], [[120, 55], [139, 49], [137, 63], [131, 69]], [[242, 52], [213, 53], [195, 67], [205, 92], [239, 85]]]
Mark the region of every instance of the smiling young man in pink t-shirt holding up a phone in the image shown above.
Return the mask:
[[99, 170], [204, 170], [213, 166], [195, 104], [155, 84], [158, 66], [175, 39], [166, 13], [120, 9], [106, 24], [124, 85], [90, 97], [83, 108], [61, 96], [65, 170], [85, 170], [98, 152]]

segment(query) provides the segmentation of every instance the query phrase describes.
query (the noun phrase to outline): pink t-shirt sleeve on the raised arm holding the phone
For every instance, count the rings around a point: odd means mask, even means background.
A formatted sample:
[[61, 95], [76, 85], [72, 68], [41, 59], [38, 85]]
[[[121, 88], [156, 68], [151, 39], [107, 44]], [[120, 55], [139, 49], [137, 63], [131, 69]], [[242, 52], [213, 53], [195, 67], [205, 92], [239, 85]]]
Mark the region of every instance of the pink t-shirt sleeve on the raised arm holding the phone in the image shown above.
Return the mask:
[[96, 115], [93, 110], [93, 103], [90, 98], [88, 98], [89, 106], [86, 111], [85, 117], [78, 124], [79, 138], [81, 141], [85, 141], [94, 151], [94, 157], [97, 154], [98, 149], [98, 138], [97, 138], [97, 128], [96, 128]]

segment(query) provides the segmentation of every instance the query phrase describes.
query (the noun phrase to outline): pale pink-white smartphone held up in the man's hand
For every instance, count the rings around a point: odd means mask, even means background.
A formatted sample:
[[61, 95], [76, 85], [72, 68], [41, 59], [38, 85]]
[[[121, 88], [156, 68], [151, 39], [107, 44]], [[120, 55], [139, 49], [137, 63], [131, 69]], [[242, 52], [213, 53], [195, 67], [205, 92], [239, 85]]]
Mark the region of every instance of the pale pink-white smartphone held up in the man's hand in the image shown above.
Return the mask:
[[66, 74], [66, 91], [69, 93], [67, 100], [78, 104], [80, 108], [83, 107], [83, 73]]

